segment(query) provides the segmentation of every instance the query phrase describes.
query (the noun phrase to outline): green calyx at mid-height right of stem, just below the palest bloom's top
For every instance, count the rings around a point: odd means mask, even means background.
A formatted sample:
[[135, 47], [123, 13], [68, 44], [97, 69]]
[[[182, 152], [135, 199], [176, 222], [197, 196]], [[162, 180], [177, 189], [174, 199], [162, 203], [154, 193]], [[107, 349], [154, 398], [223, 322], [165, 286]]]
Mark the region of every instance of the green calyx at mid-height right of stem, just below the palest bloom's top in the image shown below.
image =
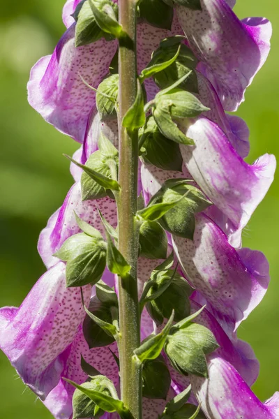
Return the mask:
[[195, 214], [204, 211], [211, 202], [190, 182], [188, 179], [168, 179], [151, 198], [149, 205], [172, 203], [180, 196], [179, 203], [164, 214], [159, 222], [169, 233], [193, 240]]

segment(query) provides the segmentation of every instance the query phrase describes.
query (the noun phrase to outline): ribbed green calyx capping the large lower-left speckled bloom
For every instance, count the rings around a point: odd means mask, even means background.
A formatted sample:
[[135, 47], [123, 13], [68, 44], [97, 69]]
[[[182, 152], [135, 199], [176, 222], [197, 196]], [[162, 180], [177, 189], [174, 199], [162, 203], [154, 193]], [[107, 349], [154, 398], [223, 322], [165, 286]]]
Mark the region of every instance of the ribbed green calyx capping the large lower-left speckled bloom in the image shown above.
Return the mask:
[[[100, 234], [99, 232], [97, 232]], [[101, 238], [100, 238], [101, 237]], [[103, 237], [78, 233], [69, 237], [54, 256], [66, 261], [66, 286], [96, 284], [106, 265], [106, 244]]]

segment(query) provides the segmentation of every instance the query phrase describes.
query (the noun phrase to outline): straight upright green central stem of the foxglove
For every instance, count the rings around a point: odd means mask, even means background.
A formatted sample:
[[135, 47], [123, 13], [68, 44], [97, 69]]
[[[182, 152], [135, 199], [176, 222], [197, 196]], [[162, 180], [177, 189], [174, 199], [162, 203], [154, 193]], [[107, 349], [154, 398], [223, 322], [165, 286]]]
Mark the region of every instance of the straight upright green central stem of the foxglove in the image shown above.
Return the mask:
[[119, 278], [119, 358], [121, 399], [135, 419], [142, 418], [141, 367], [133, 361], [133, 351], [140, 346], [140, 313], [137, 296], [138, 228], [137, 212], [137, 131], [128, 133], [121, 122], [133, 105], [137, 90], [135, 0], [119, 0], [119, 23], [131, 43], [119, 47], [119, 184], [117, 196], [119, 250], [132, 269], [128, 279]]

